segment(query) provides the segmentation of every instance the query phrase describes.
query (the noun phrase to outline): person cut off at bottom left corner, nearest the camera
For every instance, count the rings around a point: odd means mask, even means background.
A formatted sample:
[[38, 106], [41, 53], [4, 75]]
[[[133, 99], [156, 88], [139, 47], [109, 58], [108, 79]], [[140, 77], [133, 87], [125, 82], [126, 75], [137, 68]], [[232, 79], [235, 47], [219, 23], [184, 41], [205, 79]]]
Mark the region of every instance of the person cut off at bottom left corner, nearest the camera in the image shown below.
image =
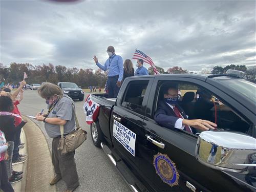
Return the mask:
[[0, 189], [4, 191], [14, 192], [12, 185], [8, 181], [6, 164], [4, 160], [8, 159], [8, 143], [5, 134], [0, 130]]

